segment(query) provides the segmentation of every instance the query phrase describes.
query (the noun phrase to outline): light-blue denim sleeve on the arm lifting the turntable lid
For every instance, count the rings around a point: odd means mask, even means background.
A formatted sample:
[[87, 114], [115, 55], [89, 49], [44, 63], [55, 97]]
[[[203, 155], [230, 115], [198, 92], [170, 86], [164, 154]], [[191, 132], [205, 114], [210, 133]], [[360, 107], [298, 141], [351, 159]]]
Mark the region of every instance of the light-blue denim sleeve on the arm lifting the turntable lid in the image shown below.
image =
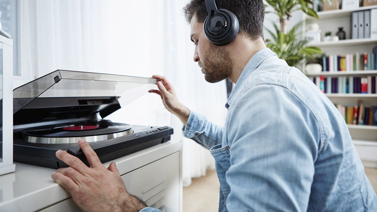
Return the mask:
[[211, 123], [206, 117], [193, 111], [182, 130], [184, 137], [191, 138], [207, 149], [221, 144], [224, 132], [223, 127]]

